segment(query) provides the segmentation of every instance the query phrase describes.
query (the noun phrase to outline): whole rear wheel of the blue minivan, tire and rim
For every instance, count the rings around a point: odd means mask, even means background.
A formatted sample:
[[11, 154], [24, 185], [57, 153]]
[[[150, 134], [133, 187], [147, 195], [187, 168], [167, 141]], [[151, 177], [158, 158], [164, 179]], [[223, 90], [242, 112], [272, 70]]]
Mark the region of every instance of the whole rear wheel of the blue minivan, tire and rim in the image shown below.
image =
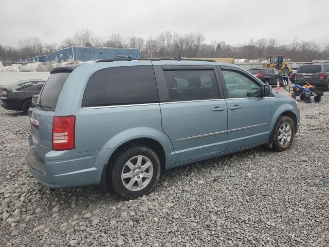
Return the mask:
[[109, 185], [124, 199], [135, 199], [149, 193], [160, 177], [158, 155], [146, 146], [122, 150], [111, 163]]

